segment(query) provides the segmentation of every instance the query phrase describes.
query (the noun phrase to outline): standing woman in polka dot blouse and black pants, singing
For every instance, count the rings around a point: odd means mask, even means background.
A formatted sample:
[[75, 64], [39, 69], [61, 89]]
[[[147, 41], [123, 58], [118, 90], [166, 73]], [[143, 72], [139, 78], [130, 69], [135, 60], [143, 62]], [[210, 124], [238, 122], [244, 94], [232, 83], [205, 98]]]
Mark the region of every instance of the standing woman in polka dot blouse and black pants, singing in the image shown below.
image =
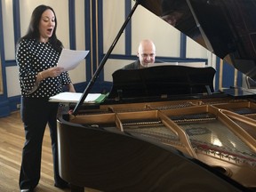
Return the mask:
[[41, 153], [46, 124], [52, 139], [54, 185], [67, 188], [60, 178], [58, 166], [57, 122], [59, 104], [49, 98], [63, 92], [75, 92], [63, 68], [57, 67], [62, 43], [56, 36], [57, 19], [52, 7], [39, 5], [33, 11], [28, 33], [20, 38], [16, 61], [19, 67], [21, 118], [26, 141], [20, 167], [20, 191], [33, 191], [40, 180]]

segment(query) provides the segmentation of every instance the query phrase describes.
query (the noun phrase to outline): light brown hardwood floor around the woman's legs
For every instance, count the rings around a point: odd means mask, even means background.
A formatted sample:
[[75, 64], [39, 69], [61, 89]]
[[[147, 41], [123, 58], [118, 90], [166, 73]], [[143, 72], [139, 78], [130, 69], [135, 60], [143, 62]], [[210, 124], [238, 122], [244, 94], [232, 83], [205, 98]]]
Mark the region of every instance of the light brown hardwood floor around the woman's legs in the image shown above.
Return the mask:
[[[11, 116], [0, 117], [0, 191], [17, 192], [19, 188], [19, 174], [21, 150], [24, 144], [24, 129], [20, 120], [20, 111]], [[53, 187], [52, 148], [48, 127], [44, 133], [42, 151], [41, 179], [35, 192], [60, 192]], [[92, 188], [85, 188], [86, 192], [97, 192]]]

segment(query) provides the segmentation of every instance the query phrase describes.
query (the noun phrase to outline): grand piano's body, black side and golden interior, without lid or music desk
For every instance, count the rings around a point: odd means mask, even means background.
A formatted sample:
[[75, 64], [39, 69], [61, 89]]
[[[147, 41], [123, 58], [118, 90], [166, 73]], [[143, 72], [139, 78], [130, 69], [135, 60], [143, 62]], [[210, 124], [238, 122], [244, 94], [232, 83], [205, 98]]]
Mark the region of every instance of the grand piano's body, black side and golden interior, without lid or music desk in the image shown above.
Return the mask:
[[64, 112], [58, 119], [60, 176], [76, 189], [203, 192], [256, 187], [254, 101], [204, 97], [108, 103], [80, 113]]

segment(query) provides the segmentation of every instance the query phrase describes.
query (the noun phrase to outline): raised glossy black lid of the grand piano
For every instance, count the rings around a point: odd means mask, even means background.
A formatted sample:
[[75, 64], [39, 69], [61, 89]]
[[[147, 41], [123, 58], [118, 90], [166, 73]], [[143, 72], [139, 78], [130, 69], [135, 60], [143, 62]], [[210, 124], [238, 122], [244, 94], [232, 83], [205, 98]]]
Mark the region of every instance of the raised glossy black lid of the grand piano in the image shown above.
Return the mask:
[[255, 0], [137, 0], [256, 80]]

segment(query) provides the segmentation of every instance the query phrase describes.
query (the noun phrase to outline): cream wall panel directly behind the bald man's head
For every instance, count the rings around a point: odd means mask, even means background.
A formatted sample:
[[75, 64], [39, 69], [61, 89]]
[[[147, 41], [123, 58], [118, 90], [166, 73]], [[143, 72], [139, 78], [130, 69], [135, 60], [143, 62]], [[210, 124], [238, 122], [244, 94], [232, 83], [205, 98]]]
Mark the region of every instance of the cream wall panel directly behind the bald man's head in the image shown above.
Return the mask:
[[180, 31], [138, 6], [132, 17], [132, 52], [136, 54], [141, 39], [151, 39], [156, 44], [156, 55], [180, 57]]

